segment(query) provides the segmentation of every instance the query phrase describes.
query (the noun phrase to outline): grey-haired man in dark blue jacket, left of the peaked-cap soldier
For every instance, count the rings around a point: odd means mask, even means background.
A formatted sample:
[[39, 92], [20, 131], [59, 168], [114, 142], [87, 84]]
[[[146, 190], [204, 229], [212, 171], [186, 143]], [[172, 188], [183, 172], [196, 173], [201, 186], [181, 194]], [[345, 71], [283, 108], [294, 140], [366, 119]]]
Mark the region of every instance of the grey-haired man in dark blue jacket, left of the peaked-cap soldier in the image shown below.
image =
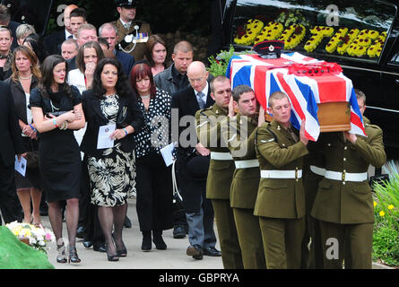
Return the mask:
[[125, 74], [129, 76], [134, 65], [134, 57], [115, 48], [118, 41], [117, 27], [110, 22], [104, 23], [99, 28], [99, 36], [107, 39], [109, 50], [114, 53], [117, 60], [122, 64]]

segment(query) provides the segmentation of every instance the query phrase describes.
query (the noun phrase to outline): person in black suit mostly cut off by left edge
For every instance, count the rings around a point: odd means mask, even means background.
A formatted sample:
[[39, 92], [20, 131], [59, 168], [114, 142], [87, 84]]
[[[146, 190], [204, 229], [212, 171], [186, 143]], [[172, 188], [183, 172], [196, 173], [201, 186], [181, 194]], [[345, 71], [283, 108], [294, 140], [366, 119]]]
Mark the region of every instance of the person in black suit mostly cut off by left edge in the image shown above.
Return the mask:
[[[22, 207], [18, 200], [14, 181], [15, 154], [21, 158], [25, 152], [22, 144], [21, 128], [15, 113], [10, 86], [0, 82], [0, 210], [4, 222], [22, 220]], [[2, 219], [0, 217], [0, 225]]]

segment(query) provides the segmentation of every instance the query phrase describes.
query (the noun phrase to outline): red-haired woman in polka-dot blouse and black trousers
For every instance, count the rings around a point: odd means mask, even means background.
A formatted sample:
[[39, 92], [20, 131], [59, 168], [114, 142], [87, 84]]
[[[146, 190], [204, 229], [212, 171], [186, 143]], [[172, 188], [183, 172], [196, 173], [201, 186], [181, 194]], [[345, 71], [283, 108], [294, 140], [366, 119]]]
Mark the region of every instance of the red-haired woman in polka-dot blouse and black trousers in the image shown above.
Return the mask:
[[143, 232], [142, 250], [150, 251], [152, 241], [157, 249], [164, 250], [167, 246], [162, 239], [162, 230], [173, 227], [173, 193], [171, 170], [166, 167], [160, 149], [169, 144], [171, 97], [155, 87], [149, 65], [134, 65], [130, 79], [144, 115], [143, 129], [134, 135], [136, 209]]

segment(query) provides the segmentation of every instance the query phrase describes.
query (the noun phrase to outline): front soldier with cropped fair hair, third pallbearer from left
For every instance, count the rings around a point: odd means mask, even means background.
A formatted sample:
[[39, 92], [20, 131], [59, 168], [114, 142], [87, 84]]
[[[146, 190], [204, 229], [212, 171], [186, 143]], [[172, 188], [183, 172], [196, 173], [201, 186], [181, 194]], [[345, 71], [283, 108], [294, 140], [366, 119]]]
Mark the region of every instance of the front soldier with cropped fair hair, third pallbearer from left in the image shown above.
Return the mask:
[[268, 269], [300, 268], [305, 230], [303, 157], [308, 154], [304, 124], [290, 123], [291, 103], [282, 91], [269, 97], [271, 123], [257, 130], [256, 154], [261, 178], [254, 214], [259, 216]]

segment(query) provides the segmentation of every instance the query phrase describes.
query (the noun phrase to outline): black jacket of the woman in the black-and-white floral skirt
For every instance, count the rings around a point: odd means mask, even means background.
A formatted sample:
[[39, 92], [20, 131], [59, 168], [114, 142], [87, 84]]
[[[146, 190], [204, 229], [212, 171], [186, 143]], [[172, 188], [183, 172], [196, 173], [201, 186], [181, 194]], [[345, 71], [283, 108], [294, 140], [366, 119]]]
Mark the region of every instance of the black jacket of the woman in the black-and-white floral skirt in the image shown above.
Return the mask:
[[[100, 126], [108, 125], [108, 119], [103, 115], [100, 108], [100, 99], [94, 94], [92, 90], [83, 91], [82, 93], [82, 107], [84, 117], [86, 118], [87, 128], [83, 135], [81, 150], [89, 156], [97, 158], [103, 157], [103, 149], [97, 149], [97, 141]], [[122, 124], [117, 124], [117, 128], [125, 126], [133, 126], [134, 132], [139, 131], [143, 126], [143, 113], [138, 106], [137, 98], [134, 92], [128, 98], [119, 98], [119, 110], [117, 118], [120, 117], [124, 109], [126, 110], [126, 119]], [[129, 134], [121, 140], [116, 140], [115, 143], [121, 143], [121, 150], [124, 152], [132, 152], [134, 149], [133, 135]]]

